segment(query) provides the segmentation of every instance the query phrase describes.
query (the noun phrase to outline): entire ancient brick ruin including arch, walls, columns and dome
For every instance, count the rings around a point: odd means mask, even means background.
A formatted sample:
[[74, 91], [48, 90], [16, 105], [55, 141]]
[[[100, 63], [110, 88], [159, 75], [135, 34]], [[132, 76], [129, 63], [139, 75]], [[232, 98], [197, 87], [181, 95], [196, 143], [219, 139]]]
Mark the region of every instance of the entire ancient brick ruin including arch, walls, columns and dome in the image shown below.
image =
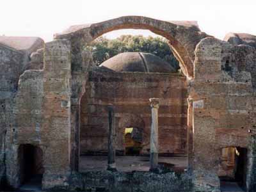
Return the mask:
[[[182, 73], [143, 52], [97, 67], [84, 45], [117, 29], [168, 39]], [[256, 36], [128, 16], [0, 36], [0, 66], [0, 189], [256, 190]]]

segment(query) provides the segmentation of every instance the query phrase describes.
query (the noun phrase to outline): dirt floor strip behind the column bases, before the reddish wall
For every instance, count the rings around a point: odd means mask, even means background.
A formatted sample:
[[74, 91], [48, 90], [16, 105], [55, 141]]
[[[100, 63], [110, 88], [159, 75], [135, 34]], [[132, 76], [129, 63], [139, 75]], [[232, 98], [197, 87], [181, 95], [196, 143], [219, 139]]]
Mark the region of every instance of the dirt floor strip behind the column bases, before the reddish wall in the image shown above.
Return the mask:
[[[81, 156], [79, 172], [106, 170], [107, 156]], [[159, 157], [159, 164], [172, 168], [175, 172], [184, 172], [188, 167], [188, 158], [184, 156]], [[116, 168], [120, 172], [148, 172], [149, 157], [116, 156]]]

